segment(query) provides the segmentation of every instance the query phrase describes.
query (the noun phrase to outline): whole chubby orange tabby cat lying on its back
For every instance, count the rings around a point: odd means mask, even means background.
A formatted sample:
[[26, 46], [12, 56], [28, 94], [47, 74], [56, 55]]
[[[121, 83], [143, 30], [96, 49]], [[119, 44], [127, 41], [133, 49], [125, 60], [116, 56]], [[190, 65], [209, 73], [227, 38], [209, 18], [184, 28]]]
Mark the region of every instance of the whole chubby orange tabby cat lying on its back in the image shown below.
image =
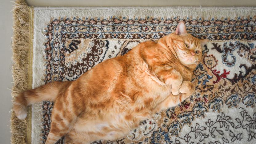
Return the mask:
[[64, 135], [65, 143], [120, 138], [141, 121], [178, 105], [194, 92], [190, 81], [206, 42], [187, 34], [181, 22], [175, 33], [157, 43], [140, 43], [73, 82], [51, 82], [19, 94], [14, 111], [24, 119], [28, 105], [55, 102], [46, 144]]

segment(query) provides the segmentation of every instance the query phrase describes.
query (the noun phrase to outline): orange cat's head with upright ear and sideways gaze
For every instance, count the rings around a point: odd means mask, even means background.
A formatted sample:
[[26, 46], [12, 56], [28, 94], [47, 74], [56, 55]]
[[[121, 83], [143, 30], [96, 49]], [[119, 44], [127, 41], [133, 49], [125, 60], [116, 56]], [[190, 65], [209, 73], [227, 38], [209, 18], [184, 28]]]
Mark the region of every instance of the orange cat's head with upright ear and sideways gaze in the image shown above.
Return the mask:
[[197, 65], [202, 58], [202, 47], [208, 39], [200, 40], [188, 34], [186, 26], [180, 22], [175, 32], [171, 35], [171, 45], [177, 58], [183, 65]]

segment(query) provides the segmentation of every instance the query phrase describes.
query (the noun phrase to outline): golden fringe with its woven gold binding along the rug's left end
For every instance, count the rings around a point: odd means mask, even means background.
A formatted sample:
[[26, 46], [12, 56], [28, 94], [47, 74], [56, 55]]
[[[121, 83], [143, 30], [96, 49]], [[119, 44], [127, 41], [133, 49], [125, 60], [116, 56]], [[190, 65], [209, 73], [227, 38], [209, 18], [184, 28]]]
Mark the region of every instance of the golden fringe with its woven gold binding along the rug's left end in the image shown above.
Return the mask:
[[[22, 91], [32, 88], [33, 62], [33, 30], [34, 8], [28, 6], [25, 0], [16, 0], [13, 8], [13, 37], [12, 37], [12, 101]], [[31, 143], [32, 108], [27, 108], [25, 120], [16, 117], [11, 110], [10, 131], [12, 144]]]

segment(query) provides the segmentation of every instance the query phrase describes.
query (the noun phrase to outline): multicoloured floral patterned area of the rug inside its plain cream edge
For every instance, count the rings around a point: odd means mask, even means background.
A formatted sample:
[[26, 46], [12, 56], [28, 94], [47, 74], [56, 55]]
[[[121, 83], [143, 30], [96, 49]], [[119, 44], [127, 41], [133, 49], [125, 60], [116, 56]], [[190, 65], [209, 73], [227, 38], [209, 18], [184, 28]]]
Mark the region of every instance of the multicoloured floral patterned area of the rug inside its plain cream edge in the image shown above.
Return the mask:
[[[157, 41], [174, 32], [181, 20], [193, 36], [210, 40], [203, 47], [202, 62], [194, 71], [192, 82], [196, 92], [180, 105], [141, 122], [127, 136], [94, 143], [256, 141], [256, 114], [247, 111], [256, 103], [255, 17], [54, 19], [45, 29], [45, 82], [73, 81], [98, 63], [126, 54], [140, 42]], [[53, 105], [42, 105], [43, 143], [49, 133]], [[237, 117], [230, 116], [229, 110]], [[210, 113], [214, 116], [207, 117]], [[64, 138], [58, 143], [64, 143]]]

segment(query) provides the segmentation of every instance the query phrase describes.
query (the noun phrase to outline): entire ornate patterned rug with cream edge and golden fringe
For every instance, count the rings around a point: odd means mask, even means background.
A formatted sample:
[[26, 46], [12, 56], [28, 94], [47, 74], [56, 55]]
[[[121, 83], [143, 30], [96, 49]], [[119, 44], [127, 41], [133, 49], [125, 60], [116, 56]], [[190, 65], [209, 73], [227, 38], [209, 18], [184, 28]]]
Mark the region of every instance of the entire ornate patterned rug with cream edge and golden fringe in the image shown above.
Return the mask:
[[[116, 141], [94, 143], [255, 143], [255, 7], [14, 7], [12, 95], [51, 81], [73, 81], [140, 42], [175, 31], [210, 41], [194, 71], [196, 92], [141, 122]], [[53, 102], [12, 112], [12, 143], [39, 144], [50, 129]], [[64, 143], [64, 137], [57, 143]]]

